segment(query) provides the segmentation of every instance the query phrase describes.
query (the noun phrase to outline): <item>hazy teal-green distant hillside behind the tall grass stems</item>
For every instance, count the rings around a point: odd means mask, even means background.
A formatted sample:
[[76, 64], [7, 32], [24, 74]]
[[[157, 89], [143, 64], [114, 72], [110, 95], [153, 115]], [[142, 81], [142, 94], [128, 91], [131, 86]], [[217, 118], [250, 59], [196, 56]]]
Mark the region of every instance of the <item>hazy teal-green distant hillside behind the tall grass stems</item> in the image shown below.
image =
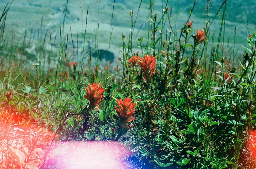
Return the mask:
[[[0, 2], [0, 9], [3, 10], [7, 0]], [[189, 10], [193, 6], [191, 0], [173, 0], [168, 2], [168, 7], [172, 10], [172, 25], [176, 24], [175, 30], [179, 30], [185, 24]], [[222, 2], [218, 0], [212, 0], [211, 10], [210, 10], [210, 21], [218, 11]], [[110, 46], [110, 52], [114, 54], [114, 62], [116, 65], [117, 58], [119, 58], [119, 49], [122, 47], [122, 34], [129, 37], [129, 31], [131, 27], [131, 16], [129, 15], [130, 10], [134, 10], [134, 19], [137, 15], [140, 1], [138, 0], [116, 0], [113, 13], [113, 33], [111, 35], [110, 41], [110, 32], [111, 32], [111, 18], [113, 11], [113, 0], [104, 0], [104, 1], [80, 1], [72, 0], [68, 2], [67, 14], [64, 23], [64, 35], [70, 34], [70, 27], [72, 30], [72, 36], [74, 41], [74, 47], [77, 47], [77, 42], [80, 44], [78, 47], [78, 53], [81, 53], [83, 46], [83, 34], [85, 29], [86, 13], [87, 7], [88, 10], [88, 22], [86, 30], [86, 42], [84, 47], [84, 55], [88, 55], [89, 46], [92, 49], [103, 49], [108, 51]], [[154, 13], [158, 13], [161, 16], [163, 8], [165, 8], [166, 1], [156, 1], [154, 4]], [[193, 22], [193, 30], [202, 29], [205, 27], [206, 18], [206, 0], [198, 0], [196, 2], [193, 15], [191, 16], [191, 21]], [[63, 16], [65, 9], [66, 1], [63, 0], [14, 0], [12, 2], [11, 8], [8, 11], [6, 19], [6, 31], [13, 32], [9, 36], [15, 34], [15, 43], [19, 44], [20, 41], [24, 39], [24, 33], [26, 31], [26, 38], [32, 39], [32, 41], [26, 46], [24, 50], [27, 53], [30, 53], [32, 56], [28, 59], [36, 60], [37, 56], [33, 57], [35, 54], [36, 46], [38, 42], [44, 41], [44, 48], [51, 51], [50, 45], [50, 36], [55, 37], [56, 42], [60, 42], [60, 32], [59, 28], [63, 25]], [[143, 0], [140, 10], [138, 12], [137, 22], [135, 24], [135, 31], [133, 35], [134, 44], [138, 44], [137, 39], [143, 36], [147, 36], [147, 16], [149, 14], [149, 1]], [[251, 28], [251, 25], [255, 26], [256, 23], [256, 14], [254, 9], [256, 8], [256, 1], [228, 1], [227, 10], [226, 10], [226, 21], [225, 21], [225, 42], [224, 47], [233, 47], [234, 44], [234, 30], [236, 27], [236, 50], [243, 48], [241, 45], [244, 45], [245, 37], [248, 34], [246, 24], [248, 22], [248, 27]], [[222, 15], [222, 13], [219, 13]], [[215, 21], [211, 25], [210, 32], [211, 34], [216, 34], [218, 37], [220, 22], [219, 18], [222, 16], [217, 16]], [[165, 29], [169, 27], [168, 22], [166, 22]], [[165, 30], [164, 29], [164, 30]], [[50, 30], [50, 33], [49, 33]], [[251, 30], [251, 29], [249, 29]], [[250, 33], [250, 32], [249, 32]], [[78, 34], [78, 35], [77, 35]], [[95, 36], [96, 35], [96, 36]], [[78, 40], [77, 40], [78, 37]], [[97, 38], [95, 38], [97, 37]], [[14, 41], [14, 38], [12, 38]], [[109, 45], [110, 42], [110, 45]], [[209, 41], [211, 45], [212, 40]], [[217, 43], [217, 38], [213, 39], [214, 43]], [[72, 48], [72, 41], [69, 36], [68, 44], [69, 48]], [[135, 46], [135, 45], [134, 45]], [[52, 43], [53, 51], [58, 52], [59, 43]], [[242, 53], [242, 52], [241, 52]], [[47, 56], [47, 55], [46, 55]], [[53, 58], [49, 58], [52, 60]], [[86, 56], [84, 56], [86, 57]], [[70, 60], [77, 60], [80, 62], [82, 60], [82, 55], [73, 56]], [[104, 59], [101, 63], [104, 66]]]

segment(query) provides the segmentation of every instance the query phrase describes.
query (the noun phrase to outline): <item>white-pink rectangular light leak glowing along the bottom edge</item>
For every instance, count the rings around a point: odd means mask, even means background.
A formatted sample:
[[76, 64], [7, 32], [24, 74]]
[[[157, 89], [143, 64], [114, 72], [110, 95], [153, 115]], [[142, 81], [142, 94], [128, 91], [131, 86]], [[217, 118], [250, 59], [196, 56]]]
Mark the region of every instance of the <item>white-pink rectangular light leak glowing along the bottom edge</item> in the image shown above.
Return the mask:
[[126, 168], [123, 158], [130, 155], [118, 142], [67, 142], [53, 149], [50, 158], [63, 161], [67, 168]]

